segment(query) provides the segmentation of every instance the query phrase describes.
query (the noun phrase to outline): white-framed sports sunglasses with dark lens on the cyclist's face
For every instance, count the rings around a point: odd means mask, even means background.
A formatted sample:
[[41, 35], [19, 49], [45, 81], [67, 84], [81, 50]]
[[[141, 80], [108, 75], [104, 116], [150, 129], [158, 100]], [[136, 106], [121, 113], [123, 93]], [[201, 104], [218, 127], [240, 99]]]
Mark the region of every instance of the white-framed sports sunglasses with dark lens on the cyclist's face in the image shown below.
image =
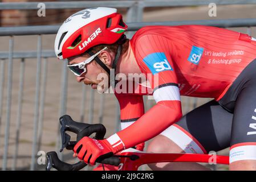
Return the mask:
[[86, 64], [88, 64], [92, 60], [94, 60], [94, 58], [97, 55], [99, 55], [99, 53], [101, 51], [104, 51], [105, 49], [107, 49], [107, 47], [104, 47], [99, 52], [95, 53], [95, 55], [92, 55], [91, 57], [89, 57], [88, 59], [84, 60], [83, 62], [78, 63], [78, 64], [67, 65], [67, 67], [70, 68], [70, 70], [75, 74], [75, 76], [81, 76], [81, 75], [83, 75], [83, 73], [86, 72]]

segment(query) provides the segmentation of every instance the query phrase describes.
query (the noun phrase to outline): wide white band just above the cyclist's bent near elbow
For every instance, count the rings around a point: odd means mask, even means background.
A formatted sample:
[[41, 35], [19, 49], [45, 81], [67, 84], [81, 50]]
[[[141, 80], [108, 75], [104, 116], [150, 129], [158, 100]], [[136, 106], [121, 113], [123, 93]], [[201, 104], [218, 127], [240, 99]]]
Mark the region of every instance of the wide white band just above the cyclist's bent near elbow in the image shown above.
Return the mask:
[[178, 86], [163, 86], [153, 93], [156, 103], [160, 101], [180, 101], [180, 90]]

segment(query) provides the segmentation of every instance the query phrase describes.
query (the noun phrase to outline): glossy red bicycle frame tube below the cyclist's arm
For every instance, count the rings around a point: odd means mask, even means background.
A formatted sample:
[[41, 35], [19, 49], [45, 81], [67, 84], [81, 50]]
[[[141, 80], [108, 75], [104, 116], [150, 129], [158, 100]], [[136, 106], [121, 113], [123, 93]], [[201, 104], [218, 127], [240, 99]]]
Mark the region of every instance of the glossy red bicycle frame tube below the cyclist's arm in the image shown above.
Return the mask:
[[137, 155], [139, 159], [131, 160], [130, 158], [120, 158], [123, 165], [120, 171], [137, 171], [143, 164], [161, 163], [161, 162], [198, 162], [209, 163], [210, 158], [216, 157], [217, 164], [229, 164], [229, 156], [208, 155], [208, 154], [153, 154], [144, 152], [123, 152], [121, 155]]

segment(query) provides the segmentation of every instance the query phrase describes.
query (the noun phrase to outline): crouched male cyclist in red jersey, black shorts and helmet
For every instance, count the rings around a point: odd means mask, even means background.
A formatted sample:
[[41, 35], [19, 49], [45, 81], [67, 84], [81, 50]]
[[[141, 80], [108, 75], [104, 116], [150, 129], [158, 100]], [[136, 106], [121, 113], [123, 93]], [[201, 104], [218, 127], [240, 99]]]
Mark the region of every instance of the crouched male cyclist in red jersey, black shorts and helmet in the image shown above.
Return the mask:
[[[96, 159], [143, 146], [153, 138], [148, 152], [207, 154], [230, 147], [231, 170], [255, 170], [255, 39], [197, 25], [147, 26], [131, 40], [125, 38], [126, 30], [122, 16], [107, 7], [79, 11], [59, 28], [56, 56], [68, 59], [78, 82], [105, 91], [113, 68], [115, 75], [127, 77], [143, 73], [151, 86], [146, 93], [141, 92], [142, 82], [133, 93], [115, 92], [122, 130], [103, 140], [84, 137], [74, 148], [78, 158], [94, 165]], [[98, 79], [100, 73], [108, 79]], [[144, 94], [153, 94], [156, 101], [147, 113]], [[214, 100], [182, 117], [180, 95]], [[206, 169], [197, 163], [149, 166], [154, 170]]]

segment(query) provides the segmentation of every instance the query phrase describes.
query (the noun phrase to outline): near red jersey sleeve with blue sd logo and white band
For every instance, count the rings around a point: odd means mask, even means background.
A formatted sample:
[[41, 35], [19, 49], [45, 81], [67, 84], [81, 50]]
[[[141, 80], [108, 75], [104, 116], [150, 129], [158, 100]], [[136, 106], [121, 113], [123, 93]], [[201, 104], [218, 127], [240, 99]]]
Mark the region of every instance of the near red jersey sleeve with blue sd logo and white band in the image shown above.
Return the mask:
[[134, 53], [137, 64], [147, 75], [157, 104], [131, 126], [108, 138], [119, 151], [155, 137], [182, 117], [180, 90], [170, 46], [157, 35], [144, 35], [136, 40]]

